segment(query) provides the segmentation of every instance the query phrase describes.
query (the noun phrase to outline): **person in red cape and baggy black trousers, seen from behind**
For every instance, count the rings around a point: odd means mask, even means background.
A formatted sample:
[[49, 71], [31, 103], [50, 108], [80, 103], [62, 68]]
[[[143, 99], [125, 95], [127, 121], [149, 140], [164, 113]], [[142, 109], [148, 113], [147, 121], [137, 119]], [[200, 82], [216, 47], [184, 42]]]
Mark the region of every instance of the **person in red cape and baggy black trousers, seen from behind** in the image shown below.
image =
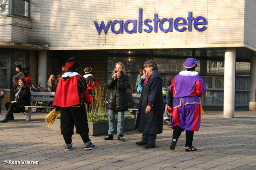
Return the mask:
[[80, 62], [71, 57], [62, 67], [63, 73], [56, 89], [52, 106], [60, 109], [60, 130], [65, 141], [65, 150], [72, 148], [74, 126], [84, 141], [84, 150], [95, 149], [89, 139], [85, 105], [90, 104], [87, 84], [78, 71]]

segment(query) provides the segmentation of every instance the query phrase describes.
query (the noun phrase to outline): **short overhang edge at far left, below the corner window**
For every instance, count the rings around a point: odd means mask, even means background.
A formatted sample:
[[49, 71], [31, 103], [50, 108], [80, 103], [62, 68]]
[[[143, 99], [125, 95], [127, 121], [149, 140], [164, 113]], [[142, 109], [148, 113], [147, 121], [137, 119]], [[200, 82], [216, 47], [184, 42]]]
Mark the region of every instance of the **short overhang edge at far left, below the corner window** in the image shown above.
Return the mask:
[[0, 48], [42, 51], [42, 50], [49, 50], [49, 45], [34, 45], [34, 44], [16, 43], [16, 42], [0, 42]]

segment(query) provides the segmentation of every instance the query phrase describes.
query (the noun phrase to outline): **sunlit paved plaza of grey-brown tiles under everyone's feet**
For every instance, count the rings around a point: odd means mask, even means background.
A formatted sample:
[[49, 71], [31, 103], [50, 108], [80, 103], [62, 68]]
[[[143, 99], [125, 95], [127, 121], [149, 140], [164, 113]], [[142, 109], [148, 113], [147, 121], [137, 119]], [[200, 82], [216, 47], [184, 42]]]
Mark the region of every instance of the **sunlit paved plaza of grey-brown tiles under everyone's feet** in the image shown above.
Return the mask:
[[[93, 150], [84, 150], [80, 135], [74, 134], [73, 148], [65, 151], [60, 132], [47, 128], [47, 113], [32, 114], [31, 122], [14, 113], [14, 121], [0, 124], [0, 170], [256, 170], [256, 111], [235, 111], [234, 119], [223, 118], [221, 110], [205, 113], [200, 131], [194, 133], [194, 152], [185, 151], [184, 132], [170, 150], [172, 129], [166, 125], [156, 148], [136, 145], [141, 134], [128, 131], [126, 142], [116, 136], [110, 141], [103, 140], [105, 135], [90, 136]], [[2, 110], [0, 119], [5, 114]]]

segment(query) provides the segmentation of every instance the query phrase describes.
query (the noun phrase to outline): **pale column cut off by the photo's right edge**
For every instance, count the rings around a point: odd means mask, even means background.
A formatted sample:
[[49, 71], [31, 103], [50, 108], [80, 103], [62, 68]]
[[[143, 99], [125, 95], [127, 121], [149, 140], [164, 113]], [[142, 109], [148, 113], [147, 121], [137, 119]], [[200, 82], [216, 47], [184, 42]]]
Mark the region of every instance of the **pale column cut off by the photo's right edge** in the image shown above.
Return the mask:
[[249, 102], [249, 110], [250, 111], [256, 111], [255, 88], [256, 88], [256, 53], [251, 52], [250, 102]]

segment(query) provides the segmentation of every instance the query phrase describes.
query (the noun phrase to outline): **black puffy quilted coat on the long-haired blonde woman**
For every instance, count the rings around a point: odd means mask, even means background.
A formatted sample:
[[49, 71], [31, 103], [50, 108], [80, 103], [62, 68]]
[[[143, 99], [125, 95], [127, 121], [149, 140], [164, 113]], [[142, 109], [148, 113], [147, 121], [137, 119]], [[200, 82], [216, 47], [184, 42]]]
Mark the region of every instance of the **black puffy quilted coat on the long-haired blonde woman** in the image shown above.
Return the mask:
[[129, 76], [121, 73], [119, 78], [112, 78], [111, 74], [106, 87], [108, 90], [112, 90], [108, 99], [107, 108], [115, 111], [125, 111], [128, 110], [128, 100], [126, 89], [130, 88]]

